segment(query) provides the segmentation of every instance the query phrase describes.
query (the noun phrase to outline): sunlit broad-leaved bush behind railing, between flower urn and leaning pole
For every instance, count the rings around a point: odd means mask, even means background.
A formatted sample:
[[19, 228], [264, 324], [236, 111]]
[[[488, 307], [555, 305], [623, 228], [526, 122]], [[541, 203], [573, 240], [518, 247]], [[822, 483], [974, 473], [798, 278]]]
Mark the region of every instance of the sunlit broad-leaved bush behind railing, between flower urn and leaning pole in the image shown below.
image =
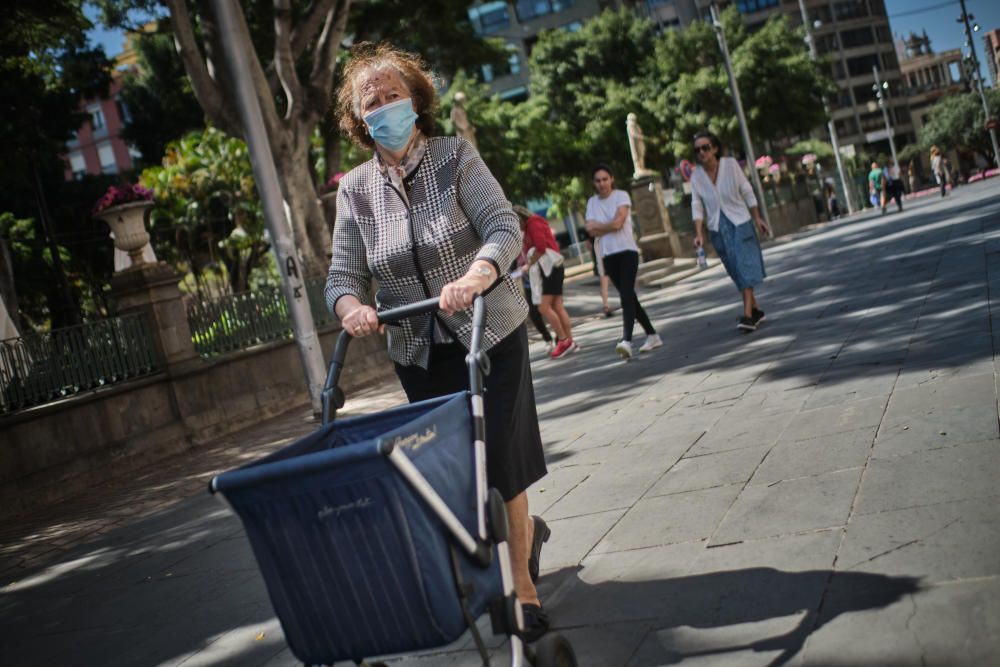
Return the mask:
[[192, 132], [142, 183], [155, 193], [150, 227], [161, 258], [190, 270], [199, 290], [218, 276], [245, 291], [269, 248], [246, 145], [214, 128]]

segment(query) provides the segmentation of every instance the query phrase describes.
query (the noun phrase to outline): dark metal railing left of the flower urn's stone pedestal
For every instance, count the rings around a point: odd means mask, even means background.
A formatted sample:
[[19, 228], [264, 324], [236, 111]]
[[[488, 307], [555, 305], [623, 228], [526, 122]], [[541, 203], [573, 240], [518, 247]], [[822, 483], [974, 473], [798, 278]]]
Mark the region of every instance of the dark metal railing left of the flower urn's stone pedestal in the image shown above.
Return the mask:
[[0, 340], [0, 414], [157, 368], [152, 332], [142, 313]]

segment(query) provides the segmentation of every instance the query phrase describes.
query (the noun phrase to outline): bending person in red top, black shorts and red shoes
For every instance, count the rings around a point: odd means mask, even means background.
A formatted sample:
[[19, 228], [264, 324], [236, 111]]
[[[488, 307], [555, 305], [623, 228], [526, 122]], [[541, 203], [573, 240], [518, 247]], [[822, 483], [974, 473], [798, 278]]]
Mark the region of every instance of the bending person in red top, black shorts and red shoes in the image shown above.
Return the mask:
[[[521, 269], [530, 274], [538, 271], [540, 285], [532, 286], [532, 298], [537, 299], [538, 311], [556, 332], [556, 346], [552, 350], [552, 358], [562, 356], [580, 349], [573, 342], [573, 329], [569, 321], [569, 313], [563, 304], [563, 281], [566, 269], [563, 267], [563, 257], [559, 252], [559, 243], [545, 218], [532, 213], [524, 206], [515, 206], [514, 212], [521, 220], [521, 232], [524, 234], [524, 252], [526, 258]], [[529, 277], [529, 283], [533, 282]], [[541, 287], [541, 295], [536, 287]], [[539, 296], [541, 297], [539, 299]]]

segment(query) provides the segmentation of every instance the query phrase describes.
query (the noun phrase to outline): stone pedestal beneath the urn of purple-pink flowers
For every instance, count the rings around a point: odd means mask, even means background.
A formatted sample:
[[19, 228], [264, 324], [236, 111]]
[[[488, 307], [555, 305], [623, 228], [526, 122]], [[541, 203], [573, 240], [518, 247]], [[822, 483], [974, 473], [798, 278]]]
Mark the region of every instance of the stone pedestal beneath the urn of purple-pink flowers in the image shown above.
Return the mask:
[[118, 314], [144, 313], [156, 353], [167, 367], [198, 358], [191, 342], [187, 310], [177, 285], [183, 276], [166, 262], [144, 263], [111, 277]]

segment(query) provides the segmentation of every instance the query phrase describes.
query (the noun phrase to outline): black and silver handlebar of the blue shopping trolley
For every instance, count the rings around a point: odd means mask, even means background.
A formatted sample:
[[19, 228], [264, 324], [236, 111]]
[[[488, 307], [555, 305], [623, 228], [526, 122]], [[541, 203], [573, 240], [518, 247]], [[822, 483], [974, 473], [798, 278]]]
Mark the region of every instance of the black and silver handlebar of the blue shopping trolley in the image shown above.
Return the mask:
[[[394, 324], [401, 320], [417, 315], [433, 313], [438, 310], [440, 299], [424, 299], [415, 303], [406, 304], [398, 308], [391, 308], [378, 313], [379, 324]], [[479, 374], [488, 375], [490, 372], [490, 360], [486, 353], [482, 351], [483, 329], [486, 327], [486, 301], [482, 295], [477, 294], [472, 302], [472, 344], [468, 361], [474, 361]], [[344, 368], [344, 361], [347, 359], [347, 346], [353, 336], [343, 330], [337, 337], [337, 344], [333, 348], [333, 358], [330, 360], [330, 369], [326, 374], [326, 384], [323, 385], [323, 392], [320, 395], [320, 404], [323, 410], [323, 424], [329, 424], [337, 414], [337, 410], [344, 407], [344, 392], [340, 388], [340, 373]], [[482, 393], [482, 378], [475, 382], [470, 364], [470, 386], [473, 392]]]

